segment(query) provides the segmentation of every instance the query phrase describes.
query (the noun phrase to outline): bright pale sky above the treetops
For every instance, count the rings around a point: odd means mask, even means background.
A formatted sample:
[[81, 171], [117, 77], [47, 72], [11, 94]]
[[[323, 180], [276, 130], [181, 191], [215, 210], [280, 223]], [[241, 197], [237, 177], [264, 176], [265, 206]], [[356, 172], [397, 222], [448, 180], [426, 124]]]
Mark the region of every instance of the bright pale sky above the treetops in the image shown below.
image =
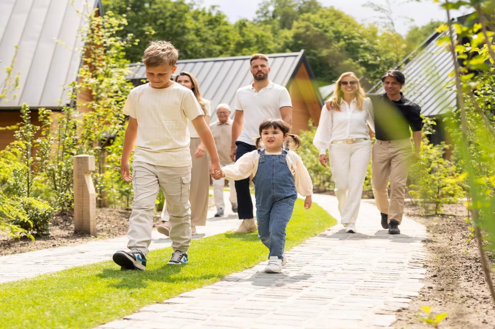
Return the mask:
[[[256, 9], [262, 0], [202, 0], [204, 6], [218, 5], [231, 22], [237, 21], [239, 18], [252, 19], [256, 15]], [[362, 5], [369, 0], [319, 0], [324, 6], [334, 6], [353, 16], [358, 22], [371, 23], [380, 20], [379, 14], [371, 8], [363, 7]], [[376, 4], [385, 4], [385, 0], [374, 0]], [[407, 0], [392, 0], [392, 10], [396, 19], [396, 31], [405, 35], [410, 26], [424, 25], [432, 20], [446, 20], [446, 12], [433, 0], [423, 0], [420, 3], [407, 2]], [[461, 16], [463, 12], [453, 12], [452, 16]], [[399, 16], [413, 18], [414, 22], [410, 23], [407, 19], [402, 19]]]

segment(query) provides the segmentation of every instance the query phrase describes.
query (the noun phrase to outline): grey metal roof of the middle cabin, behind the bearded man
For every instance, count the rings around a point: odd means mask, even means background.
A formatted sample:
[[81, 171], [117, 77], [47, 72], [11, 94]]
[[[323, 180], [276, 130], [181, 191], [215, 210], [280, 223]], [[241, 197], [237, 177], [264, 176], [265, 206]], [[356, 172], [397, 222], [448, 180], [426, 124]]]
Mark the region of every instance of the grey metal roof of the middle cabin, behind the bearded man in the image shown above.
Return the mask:
[[[267, 56], [271, 68], [270, 81], [288, 87], [303, 62], [310, 78], [314, 81], [304, 50]], [[229, 104], [234, 114], [237, 89], [253, 81], [252, 74], [249, 72], [250, 58], [251, 56], [235, 56], [179, 60], [177, 61], [177, 70], [175, 72], [187, 71], [196, 76], [201, 95], [211, 101], [212, 115], [216, 106], [220, 103]], [[146, 79], [144, 64], [131, 64], [131, 67], [132, 73], [127, 77], [128, 79], [135, 82], [135, 84], [139, 84], [140, 80]], [[315, 92], [319, 97], [320, 103], [322, 103], [318, 88], [315, 88]]]

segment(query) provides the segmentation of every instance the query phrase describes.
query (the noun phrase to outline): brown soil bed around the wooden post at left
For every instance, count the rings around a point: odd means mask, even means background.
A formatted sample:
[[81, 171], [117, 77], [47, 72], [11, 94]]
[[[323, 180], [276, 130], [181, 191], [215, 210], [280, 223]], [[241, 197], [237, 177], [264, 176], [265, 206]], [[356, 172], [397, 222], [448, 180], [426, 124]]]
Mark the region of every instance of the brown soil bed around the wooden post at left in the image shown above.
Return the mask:
[[0, 235], [0, 256], [124, 236], [129, 228], [130, 213], [124, 208], [97, 208], [98, 237], [95, 238], [88, 233], [74, 233], [73, 212], [59, 212], [50, 223], [48, 237], [35, 237], [36, 240], [31, 241], [26, 237], [12, 240]]

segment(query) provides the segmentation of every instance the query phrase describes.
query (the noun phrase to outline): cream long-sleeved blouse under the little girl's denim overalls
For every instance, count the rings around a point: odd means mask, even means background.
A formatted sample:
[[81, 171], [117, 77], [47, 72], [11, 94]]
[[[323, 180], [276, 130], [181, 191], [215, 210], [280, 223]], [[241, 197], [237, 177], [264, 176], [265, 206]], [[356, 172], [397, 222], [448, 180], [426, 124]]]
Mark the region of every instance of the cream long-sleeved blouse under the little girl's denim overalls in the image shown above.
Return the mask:
[[[270, 153], [265, 152], [265, 155], [279, 155], [282, 152]], [[303, 197], [313, 194], [313, 183], [309, 176], [308, 170], [302, 163], [301, 157], [294, 152], [287, 153], [287, 165], [294, 175], [294, 183], [296, 184], [297, 193]], [[259, 154], [258, 151], [252, 151], [243, 155], [235, 164], [229, 164], [222, 168], [225, 172], [225, 179], [241, 180], [254, 176], [258, 171]]]

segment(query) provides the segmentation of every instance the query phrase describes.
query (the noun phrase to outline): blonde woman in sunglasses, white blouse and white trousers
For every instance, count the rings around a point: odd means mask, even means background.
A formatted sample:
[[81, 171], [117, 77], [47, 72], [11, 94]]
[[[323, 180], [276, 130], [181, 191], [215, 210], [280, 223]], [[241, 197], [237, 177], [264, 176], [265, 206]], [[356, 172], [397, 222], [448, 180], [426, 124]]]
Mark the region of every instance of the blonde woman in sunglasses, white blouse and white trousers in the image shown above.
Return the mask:
[[335, 83], [332, 98], [321, 110], [313, 144], [320, 152], [320, 163], [326, 167], [328, 160], [332, 169], [341, 223], [348, 233], [356, 232], [371, 157], [370, 129], [375, 130], [371, 100], [354, 73], [343, 73]]

